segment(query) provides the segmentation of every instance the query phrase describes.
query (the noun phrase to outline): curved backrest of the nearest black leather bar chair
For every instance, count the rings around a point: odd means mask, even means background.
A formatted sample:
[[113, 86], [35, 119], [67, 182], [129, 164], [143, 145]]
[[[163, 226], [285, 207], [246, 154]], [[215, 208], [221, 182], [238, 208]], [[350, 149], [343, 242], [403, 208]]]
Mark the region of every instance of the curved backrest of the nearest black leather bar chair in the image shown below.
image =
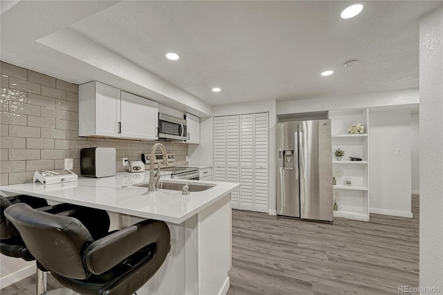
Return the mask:
[[83, 266], [82, 253], [93, 238], [80, 221], [37, 211], [23, 203], [9, 206], [4, 213], [46, 269], [80, 280], [90, 275]]

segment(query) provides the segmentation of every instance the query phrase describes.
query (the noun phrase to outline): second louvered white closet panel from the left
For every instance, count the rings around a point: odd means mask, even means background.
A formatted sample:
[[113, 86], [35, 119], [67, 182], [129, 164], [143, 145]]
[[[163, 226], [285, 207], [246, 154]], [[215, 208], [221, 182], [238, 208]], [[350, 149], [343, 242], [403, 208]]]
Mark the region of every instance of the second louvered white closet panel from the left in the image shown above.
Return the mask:
[[[226, 117], [226, 178], [228, 182], [239, 182], [239, 116]], [[233, 209], [239, 208], [238, 190], [230, 193]]]

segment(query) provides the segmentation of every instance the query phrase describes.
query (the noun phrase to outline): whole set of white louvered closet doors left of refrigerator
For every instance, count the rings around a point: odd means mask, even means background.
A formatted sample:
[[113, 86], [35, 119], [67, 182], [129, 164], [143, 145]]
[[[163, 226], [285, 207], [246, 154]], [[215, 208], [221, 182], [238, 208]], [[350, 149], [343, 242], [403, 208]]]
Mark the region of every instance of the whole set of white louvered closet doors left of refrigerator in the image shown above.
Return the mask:
[[269, 211], [269, 114], [214, 117], [214, 180], [239, 182], [235, 209]]

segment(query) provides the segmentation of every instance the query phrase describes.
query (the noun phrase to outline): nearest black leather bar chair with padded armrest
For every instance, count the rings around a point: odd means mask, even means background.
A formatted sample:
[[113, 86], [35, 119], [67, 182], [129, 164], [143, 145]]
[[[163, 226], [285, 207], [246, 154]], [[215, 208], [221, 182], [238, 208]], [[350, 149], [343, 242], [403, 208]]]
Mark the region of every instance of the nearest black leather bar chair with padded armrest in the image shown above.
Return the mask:
[[15, 204], [5, 211], [30, 253], [62, 285], [84, 295], [129, 295], [163, 264], [170, 250], [165, 222], [144, 220], [95, 240], [73, 217]]

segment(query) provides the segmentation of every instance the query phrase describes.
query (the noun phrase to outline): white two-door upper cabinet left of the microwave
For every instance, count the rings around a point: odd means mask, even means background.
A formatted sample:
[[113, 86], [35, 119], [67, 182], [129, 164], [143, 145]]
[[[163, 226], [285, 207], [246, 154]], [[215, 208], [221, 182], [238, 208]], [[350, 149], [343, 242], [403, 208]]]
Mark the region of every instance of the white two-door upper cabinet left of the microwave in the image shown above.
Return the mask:
[[154, 140], [158, 104], [93, 81], [79, 87], [79, 136]]

